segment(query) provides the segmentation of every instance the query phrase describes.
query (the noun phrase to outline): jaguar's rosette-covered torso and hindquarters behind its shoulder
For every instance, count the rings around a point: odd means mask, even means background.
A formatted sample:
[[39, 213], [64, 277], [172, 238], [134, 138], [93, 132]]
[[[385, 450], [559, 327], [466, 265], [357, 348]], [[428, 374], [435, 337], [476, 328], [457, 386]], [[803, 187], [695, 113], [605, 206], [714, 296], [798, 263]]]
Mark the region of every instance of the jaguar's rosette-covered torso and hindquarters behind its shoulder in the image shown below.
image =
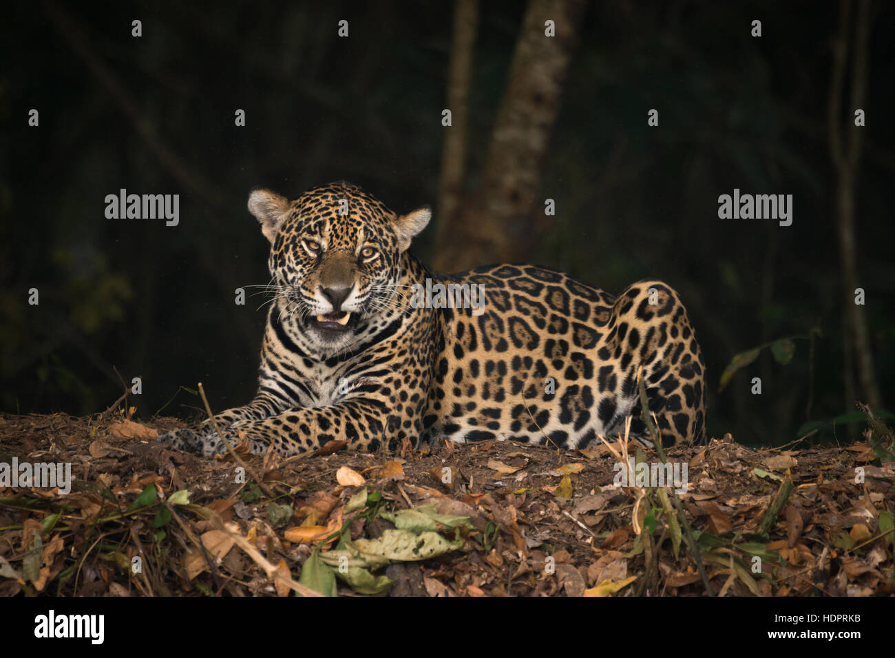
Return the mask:
[[584, 447], [633, 414], [632, 435], [650, 445], [635, 379], [643, 366], [663, 443], [702, 437], [702, 352], [668, 285], [635, 283], [617, 298], [567, 274], [508, 265], [447, 281], [484, 301], [446, 314], [430, 391], [436, 434]]

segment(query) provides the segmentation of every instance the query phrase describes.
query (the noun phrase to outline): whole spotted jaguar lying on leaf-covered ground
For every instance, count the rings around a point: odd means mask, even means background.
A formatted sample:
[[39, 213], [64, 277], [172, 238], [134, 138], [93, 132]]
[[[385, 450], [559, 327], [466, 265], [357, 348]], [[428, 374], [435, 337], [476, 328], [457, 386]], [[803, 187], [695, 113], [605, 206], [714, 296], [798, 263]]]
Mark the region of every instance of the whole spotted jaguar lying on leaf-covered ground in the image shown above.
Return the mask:
[[630, 416], [652, 448], [638, 375], [663, 446], [703, 437], [703, 355], [667, 283], [615, 296], [537, 266], [435, 274], [408, 251], [430, 208], [396, 215], [345, 181], [292, 201], [252, 190], [248, 208], [272, 277], [258, 392], [158, 441], [206, 457], [223, 439], [281, 456], [334, 439], [583, 448]]

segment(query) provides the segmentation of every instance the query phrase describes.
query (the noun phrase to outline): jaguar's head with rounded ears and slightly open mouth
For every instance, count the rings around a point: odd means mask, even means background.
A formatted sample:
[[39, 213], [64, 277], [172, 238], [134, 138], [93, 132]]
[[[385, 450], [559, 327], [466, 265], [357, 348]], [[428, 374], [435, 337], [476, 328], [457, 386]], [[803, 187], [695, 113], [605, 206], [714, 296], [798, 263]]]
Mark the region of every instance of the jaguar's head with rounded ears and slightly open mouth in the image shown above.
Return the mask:
[[253, 190], [249, 211], [270, 240], [268, 267], [281, 308], [336, 348], [351, 342], [358, 323], [395, 307], [401, 254], [431, 216], [428, 207], [398, 216], [345, 182], [294, 201]]

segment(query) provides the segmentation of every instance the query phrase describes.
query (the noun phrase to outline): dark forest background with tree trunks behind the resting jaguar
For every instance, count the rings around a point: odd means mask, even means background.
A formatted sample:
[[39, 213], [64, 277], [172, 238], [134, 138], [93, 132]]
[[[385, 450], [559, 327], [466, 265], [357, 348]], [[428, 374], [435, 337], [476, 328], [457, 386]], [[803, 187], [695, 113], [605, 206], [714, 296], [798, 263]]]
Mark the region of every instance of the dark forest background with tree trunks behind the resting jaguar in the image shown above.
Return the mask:
[[[264, 299], [238, 306], [234, 290], [268, 282], [249, 190], [294, 198], [340, 179], [396, 212], [431, 204], [415, 250], [439, 270], [668, 281], [703, 345], [712, 435], [847, 439], [855, 401], [895, 408], [895, 4], [2, 12], [2, 411], [101, 411], [135, 376], [143, 419], [192, 418], [200, 401], [179, 387], [198, 381], [216, 410], [249, 401]], [[179, 194], [180, 224], [107, 219], [123, 188]], [[720, 219], [735, 189], [791, 194], [792, 225]]]

